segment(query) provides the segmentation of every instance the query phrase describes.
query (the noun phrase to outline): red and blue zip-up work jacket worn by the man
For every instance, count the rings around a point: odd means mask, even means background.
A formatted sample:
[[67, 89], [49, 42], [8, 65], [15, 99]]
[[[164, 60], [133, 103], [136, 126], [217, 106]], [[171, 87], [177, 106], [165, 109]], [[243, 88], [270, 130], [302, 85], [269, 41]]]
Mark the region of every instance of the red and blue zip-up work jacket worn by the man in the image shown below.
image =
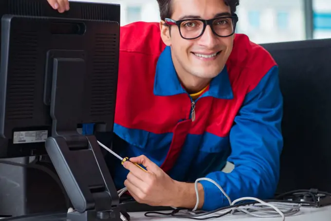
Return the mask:
[[[278, 67], [266, 50], [236, 34], [224, 70], [195, 100], [177, 78], [159, 23], [121, 27], [113, 150], [122, 157], [146, 155], [172, 179], [207, 177], [231, 200], [268, 199], [279, 178], [282, 95]], [[221, 170], [229, 161], [231, 173]], [[117, 188], [128, 171], [108, 160]], [[228, 205], [216, 185], [202, 181], [203, 210]]]

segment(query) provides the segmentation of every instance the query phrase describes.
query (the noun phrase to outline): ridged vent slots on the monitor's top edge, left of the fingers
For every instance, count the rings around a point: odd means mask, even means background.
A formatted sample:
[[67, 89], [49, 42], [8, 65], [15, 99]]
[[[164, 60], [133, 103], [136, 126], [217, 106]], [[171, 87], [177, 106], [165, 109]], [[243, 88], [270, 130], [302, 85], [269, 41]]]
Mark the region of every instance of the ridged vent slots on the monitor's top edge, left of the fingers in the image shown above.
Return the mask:
[[9, 14], [21, 16], [41, 16], [41, 2], [34, 0], [9, 0]]

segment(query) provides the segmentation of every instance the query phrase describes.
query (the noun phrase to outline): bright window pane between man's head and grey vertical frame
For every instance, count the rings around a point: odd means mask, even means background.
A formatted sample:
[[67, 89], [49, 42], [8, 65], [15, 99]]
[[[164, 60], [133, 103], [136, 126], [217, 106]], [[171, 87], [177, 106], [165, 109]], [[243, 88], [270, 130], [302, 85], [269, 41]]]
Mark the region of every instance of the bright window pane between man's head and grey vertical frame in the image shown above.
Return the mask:
[[304, 12], [304, 0], [241, 0], [236, 32], [257, 44], [304, 40]]

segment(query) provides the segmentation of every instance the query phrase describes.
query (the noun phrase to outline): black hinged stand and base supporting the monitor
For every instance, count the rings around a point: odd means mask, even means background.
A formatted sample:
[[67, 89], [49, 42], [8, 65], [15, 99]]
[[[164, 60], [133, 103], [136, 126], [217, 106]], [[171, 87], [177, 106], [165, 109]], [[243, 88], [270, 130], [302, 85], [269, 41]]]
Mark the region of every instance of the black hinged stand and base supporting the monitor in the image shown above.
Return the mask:
[[[84, 107], [81, 92], [85, 79], [81, 76], [86, 75], [85, 61], [79, 56], [66, 50], [57, 52], [51, 62], [53, 73], [47, 73], [49, 81], [45, 81], [45, 92], [50, 92], [45, 93], [45, 100], [50, 101], [53, 120], [52, 136], [47, 138], [45, 147], [74, 210], [12, 218], [14, 220], [122, 221], [121, 215], [129, 220], [129, 215], [119, 206], [119, 196], [96, 137], [77, 132], [77, 125], [83, 123], [79, 113]], [[67, 83], [67, 75], [75, 79], [74, 87]]]

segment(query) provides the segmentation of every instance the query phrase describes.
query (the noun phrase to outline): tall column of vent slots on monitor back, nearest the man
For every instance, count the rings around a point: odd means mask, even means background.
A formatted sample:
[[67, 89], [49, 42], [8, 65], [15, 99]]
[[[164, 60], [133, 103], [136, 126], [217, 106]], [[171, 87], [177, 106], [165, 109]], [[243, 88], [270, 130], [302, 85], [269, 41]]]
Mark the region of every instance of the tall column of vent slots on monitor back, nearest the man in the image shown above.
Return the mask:
[[116, 35], [98, 34], [95, 39], [92, 76], [91, 115], [109, 114], [112, 111], [112, 95], [115, 91]]

